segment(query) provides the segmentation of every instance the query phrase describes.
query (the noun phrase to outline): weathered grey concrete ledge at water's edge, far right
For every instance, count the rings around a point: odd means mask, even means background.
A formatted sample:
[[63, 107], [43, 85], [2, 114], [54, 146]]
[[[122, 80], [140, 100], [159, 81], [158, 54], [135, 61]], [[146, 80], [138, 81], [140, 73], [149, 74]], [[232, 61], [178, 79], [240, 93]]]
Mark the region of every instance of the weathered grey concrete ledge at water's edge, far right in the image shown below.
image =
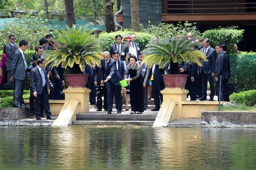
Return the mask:
[[256, 112], [203, 111], [205, 127], [256, 127]]

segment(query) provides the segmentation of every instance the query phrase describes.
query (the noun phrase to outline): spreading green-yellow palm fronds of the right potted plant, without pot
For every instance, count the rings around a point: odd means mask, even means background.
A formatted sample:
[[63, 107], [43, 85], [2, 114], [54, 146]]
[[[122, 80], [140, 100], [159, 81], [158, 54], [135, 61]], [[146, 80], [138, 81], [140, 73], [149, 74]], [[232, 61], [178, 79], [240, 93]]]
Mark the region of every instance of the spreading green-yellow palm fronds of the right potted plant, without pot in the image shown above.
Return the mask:
[[186, 40], [186, 37], [183, 37], [181, 40], [171, 42], [168, 39], [152, 42], [146, 45], [143, 62], [148, 64], [148, 67], [152, 67], [156, 62], [159, 68], [164, 68], [169, 62], [182, 61], [201, 65], [200, 59], [207, 61], [206, 55], [200, 50], [194, 50], [193, 47], [201, 43], [192, 43], [193, 40]]

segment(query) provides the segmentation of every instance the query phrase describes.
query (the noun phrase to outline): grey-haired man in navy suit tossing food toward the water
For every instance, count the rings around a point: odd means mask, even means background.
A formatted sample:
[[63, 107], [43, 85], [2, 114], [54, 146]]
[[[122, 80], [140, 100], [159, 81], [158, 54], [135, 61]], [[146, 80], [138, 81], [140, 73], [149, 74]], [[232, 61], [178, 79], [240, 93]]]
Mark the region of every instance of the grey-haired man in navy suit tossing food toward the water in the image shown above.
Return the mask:
[[[117, 85], [119, 82], [116, 79], [116, 61], [110, 57], [108, 51], [103, 52], [103, 59], [101, 59], [101, 82], [102, 86], [106, 85], [108, 114], [111, 114], [113, 108], [113, 84]], [[105, 83], [105, 84], [104, 84]], [[121, 110], [120, 110], [121, 113]]]

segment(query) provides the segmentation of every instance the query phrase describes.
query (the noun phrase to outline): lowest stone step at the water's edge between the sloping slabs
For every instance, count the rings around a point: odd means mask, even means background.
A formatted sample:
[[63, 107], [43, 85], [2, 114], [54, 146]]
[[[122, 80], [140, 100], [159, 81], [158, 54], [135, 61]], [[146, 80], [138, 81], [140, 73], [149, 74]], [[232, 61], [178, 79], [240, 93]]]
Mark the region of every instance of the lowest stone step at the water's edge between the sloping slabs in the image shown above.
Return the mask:
[[154, 121], [82, 121], [75, 120], [73, 125], [136, 125], [136, 126], [152, 126]]

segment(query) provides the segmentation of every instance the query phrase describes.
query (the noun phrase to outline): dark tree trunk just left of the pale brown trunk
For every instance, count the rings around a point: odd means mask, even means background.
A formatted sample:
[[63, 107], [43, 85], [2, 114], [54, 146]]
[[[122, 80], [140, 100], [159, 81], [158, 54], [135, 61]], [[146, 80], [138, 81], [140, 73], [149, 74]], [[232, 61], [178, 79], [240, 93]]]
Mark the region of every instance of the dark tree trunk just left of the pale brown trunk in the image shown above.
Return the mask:
[[113, 0], [105, 0], [105, 12], [106, 12], [106, 20], [105, 20], [105, 26], [106, 31], [111, 32], [115, 31], [115, 23], [114, 23], [114, 16], [113, 16]]

